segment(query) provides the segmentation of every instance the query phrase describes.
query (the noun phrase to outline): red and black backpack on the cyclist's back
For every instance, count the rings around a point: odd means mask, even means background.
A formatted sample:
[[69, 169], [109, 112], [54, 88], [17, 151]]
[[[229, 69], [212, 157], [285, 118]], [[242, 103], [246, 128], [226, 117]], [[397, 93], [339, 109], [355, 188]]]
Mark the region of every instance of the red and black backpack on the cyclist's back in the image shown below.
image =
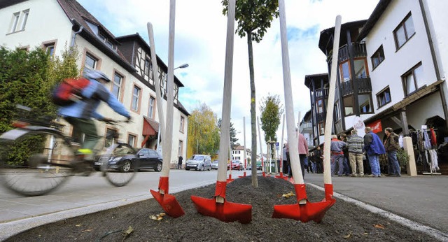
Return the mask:
[[86, 78], [67, 78], [55, 87], [52, 92], [52, 103], [57, 106], [69, 106], [83, 99], [81, 92], [90, 80]]

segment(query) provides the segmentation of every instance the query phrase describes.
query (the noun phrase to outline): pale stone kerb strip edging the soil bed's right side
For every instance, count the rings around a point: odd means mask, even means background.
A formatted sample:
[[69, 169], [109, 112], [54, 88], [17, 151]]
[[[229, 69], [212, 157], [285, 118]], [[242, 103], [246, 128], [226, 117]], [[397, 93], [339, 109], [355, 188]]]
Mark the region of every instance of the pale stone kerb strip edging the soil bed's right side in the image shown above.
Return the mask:
[[[323, 187], [320, 187], [318, 185], [314, 185], [312, 183], [307, 183], [307, 185], [311, 185], [311, 187], [315, 187], [318, 190], [325, 191], [323, 189]], [[351, 197], [347, 197], [347, 196], [337, 193], [337, 192], [333, 192], [333, 196], [337, 197], [338, 199], [348, 201], [351, 204], [355, 204], [356, 206], [360, 206], [361, 208], [364, 208], [367, 211], [370, 211], [372, 213], [377, 213], [385, 218], [388, 218], [390, 220], [398, 222], [400, 225], [405, 225], [406, 227], [409, 227], [410, 229], [414, 229], [414, 230], [418, 230], [420, 232], [426, 233], [430, 236], [435, 237], [435, 239], [438, 239], [440, 241], [448, 241], [448, 234], [445, 234], [444, 232], [441, 232], [440, 230], [428, 227], [426, 225], [419, 224], [418, 222], [414, 222], [412, 220], [408, 220], [407, 218], [403, 218], [394, 213], [391, 213], [391, 212], [385, 211], [381, 208], [377, 208], [375, 206], [366, 204], [363, 201], [358, 201], [356, 199], [352, 199]]]

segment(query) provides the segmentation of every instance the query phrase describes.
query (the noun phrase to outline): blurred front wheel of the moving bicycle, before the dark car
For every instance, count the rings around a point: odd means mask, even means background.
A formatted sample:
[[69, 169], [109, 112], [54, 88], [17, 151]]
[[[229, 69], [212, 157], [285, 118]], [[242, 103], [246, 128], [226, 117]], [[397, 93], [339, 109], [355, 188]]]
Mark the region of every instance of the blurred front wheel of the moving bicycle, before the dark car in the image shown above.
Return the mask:
[[[101, 157], [101, 171], [109, 183], [116, 187], [123, 187], [127, 183], [130, 183], [139, 171], [139, 162], [137, 159], [132, 159], [132, 162], [123, 162], [123, 164], [115, 163], [114, 161], [116, 161], [116, 157], [136, 154], [137, 150], [126, 143], [111, 145], [106, 150], [106, 154]], [[123, 166], [127, 166], [126, 169], [123, 169]]]

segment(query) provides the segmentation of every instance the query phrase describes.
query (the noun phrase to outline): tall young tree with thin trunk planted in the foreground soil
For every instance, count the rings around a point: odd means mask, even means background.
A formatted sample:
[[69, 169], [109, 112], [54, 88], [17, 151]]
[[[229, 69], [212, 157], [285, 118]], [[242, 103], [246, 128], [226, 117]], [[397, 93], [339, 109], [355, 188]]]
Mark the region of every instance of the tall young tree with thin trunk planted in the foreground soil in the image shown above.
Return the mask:
[[[228, 0], [223, 0], [223, 14], [228, 13]], [[252, 160], [257, 160], [257, 129], [255, 111], [255, 77], [253, 73], [252, 41], [259, 43], [265, 32], [271, 27], [274, 17], [279, 17], [279, 1], [277, 0], [238, 0], [235, 7], [235, 20], [238, 22], [237, 34], [247, 36], [249, 75], [251, 78], [251, 140]], [[252, 163], [252, 186], [258, 187], [256, 162]]]

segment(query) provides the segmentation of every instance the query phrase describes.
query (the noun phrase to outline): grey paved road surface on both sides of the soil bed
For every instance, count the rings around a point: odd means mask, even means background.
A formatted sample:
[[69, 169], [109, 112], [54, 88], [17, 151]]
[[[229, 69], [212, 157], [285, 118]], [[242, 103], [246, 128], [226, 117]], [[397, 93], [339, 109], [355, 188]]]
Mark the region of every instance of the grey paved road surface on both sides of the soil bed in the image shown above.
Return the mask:
[[[242, 171], [233, 171], [232, 178], [239, 175]], [[125, 187], [113, 187], [99, 174], [73, 177], [59, 190], [40, 197], [20, 197], [0, 186], [0, 241], [31, 227], [151, 199], [149, 190], [157, 190], [159, 177], [160, 173], [144, 171]], [[169, 193], [213, 184], [216, 178], [216, 171], [172, 170]], [[448, 234], [448, 176], [332, 180], [335, 193]], [[322, 187], [323, 176], [306, 174], [305, 183]]]

